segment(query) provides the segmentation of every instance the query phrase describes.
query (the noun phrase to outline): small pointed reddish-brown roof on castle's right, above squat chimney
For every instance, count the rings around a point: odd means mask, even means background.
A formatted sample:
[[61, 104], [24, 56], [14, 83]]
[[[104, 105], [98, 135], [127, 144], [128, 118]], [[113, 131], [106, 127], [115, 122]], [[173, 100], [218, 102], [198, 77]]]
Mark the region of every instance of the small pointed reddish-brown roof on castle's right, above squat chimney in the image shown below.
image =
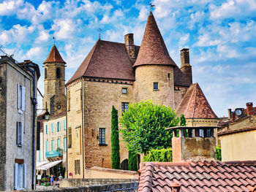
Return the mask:
[[185, 118], [218, 118], [211, 109], [210, 104], [204, 96], [198, 83], [190, 85], [185, 96], [178, 107], [178, 117], [184, 115]]

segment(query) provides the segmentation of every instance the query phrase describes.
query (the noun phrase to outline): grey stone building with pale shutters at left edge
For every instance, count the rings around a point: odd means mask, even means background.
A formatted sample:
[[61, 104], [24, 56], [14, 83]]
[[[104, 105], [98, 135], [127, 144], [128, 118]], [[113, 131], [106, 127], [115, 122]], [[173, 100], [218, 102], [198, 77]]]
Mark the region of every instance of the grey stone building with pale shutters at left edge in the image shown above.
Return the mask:
[[0, 191], [34, 188], [39, 67], [0, 58]]

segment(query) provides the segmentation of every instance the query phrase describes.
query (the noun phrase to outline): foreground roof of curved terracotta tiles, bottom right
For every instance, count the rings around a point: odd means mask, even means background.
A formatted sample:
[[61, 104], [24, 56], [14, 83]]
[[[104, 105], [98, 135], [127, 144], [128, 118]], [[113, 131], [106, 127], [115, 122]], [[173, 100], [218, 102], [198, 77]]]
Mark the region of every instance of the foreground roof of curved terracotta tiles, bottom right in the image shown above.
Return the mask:
[[173, 183], [180, 192], [256, 190], [256, 161], [148, 162], [140, 172], [139, 192], [171, 191]]

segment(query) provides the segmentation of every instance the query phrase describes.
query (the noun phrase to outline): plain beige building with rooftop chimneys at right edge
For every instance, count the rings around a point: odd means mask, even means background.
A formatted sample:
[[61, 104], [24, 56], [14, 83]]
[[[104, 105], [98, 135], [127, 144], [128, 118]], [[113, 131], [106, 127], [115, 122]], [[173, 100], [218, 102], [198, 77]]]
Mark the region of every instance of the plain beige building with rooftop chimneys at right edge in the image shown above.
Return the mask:
[[246, 109], [228, 110], [229, 118], [220, 123], [219, 144], [222, 161], [256, 160], [256, 107], [246, 103]]

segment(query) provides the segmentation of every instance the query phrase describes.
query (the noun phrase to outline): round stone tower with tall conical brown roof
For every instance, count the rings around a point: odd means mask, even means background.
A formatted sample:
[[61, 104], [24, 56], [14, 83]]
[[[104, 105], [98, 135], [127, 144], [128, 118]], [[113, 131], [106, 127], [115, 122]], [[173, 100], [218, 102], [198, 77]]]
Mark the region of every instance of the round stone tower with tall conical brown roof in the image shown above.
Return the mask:
[[176, 67], [165, 46], [152, 12], [135, 61], [135, 101], [152, 99], [174, 109], [173, 68]]

